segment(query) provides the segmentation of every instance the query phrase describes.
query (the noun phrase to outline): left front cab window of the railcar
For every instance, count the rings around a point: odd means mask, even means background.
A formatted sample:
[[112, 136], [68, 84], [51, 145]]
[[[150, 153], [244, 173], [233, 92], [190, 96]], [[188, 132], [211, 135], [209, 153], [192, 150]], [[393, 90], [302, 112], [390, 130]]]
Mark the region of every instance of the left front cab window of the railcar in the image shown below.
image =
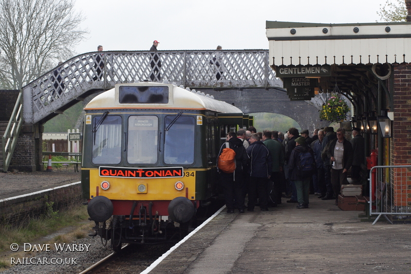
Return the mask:
[[[93, 126], [99, 122], [101, 116], [93, 118]], [[121, 117], [107, 116], [92, 142], [92, 162], [95, 164], [116, 164], [121, 161]]]

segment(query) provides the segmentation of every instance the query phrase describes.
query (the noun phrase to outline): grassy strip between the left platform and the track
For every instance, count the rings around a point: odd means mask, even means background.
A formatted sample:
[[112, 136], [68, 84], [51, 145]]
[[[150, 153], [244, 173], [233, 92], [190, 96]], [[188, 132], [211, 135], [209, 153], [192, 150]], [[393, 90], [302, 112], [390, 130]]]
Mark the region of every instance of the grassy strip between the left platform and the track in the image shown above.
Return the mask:
[[[7, 224], [0, 224], [0, 252], [10, 251], [10, 245], [12, 243], [17, 243], [18, 245], [30, 243], [43, 236], [56, 232], [61, 228], [67, 226], [79, 226], [79, 223], [87, 220], [87, 218], [87, 207], [78, 205], [66, 211], [61, 210], [59, 212], [51, 212], [51, 214], [46, 214], [42, 217], [30, 220], [25, 225], [19, 227], [10, 227]], [[83, 233], [82, 230], [84, 230]], [[82, 226], [82, 228], [79, 227], [78, 230], [72, 232], [74, 234], [70, 235], [70, 237], [73, 239], [84, 238], [86, 232], [88, 232], [87, 228], [83, 229]], [[57, 238], [54, 240], [66, 241], [68, 239]]]

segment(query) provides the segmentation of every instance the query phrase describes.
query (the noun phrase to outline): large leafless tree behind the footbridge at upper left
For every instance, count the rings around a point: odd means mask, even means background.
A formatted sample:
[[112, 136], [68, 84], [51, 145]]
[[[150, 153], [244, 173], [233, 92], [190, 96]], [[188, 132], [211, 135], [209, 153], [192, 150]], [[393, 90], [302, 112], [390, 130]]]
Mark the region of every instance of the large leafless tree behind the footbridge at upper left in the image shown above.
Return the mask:
[[0, 87], [21, 88], [84, 38], [72, 0], [0, 0]]

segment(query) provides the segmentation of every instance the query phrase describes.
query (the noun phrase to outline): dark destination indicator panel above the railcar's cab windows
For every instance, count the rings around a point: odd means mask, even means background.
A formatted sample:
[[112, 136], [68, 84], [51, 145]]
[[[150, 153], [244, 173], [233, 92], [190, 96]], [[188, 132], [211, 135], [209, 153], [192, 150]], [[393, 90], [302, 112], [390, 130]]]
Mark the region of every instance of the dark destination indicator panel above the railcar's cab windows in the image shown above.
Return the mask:
[[167, 104], [168, 86], [119, 86], [120, 104]]

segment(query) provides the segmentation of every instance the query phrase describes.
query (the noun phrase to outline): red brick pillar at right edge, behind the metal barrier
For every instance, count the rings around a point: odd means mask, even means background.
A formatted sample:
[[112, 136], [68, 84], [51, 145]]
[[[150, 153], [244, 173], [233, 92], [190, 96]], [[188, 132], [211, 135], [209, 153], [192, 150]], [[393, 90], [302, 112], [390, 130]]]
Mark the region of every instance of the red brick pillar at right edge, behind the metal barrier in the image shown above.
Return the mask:
[[[411, 2], [411, 1], [410, 1]], [[395, 166], [411, 165], [411, 64], [394, 64], [394, 121], [391, 141], [391, 163]], [[411, 195], [408, 181], [401, 170], [392, 174], [394, 202], [396, 206], [406, 204]], [[402, 176], [401, 176], [402, 175]]]

